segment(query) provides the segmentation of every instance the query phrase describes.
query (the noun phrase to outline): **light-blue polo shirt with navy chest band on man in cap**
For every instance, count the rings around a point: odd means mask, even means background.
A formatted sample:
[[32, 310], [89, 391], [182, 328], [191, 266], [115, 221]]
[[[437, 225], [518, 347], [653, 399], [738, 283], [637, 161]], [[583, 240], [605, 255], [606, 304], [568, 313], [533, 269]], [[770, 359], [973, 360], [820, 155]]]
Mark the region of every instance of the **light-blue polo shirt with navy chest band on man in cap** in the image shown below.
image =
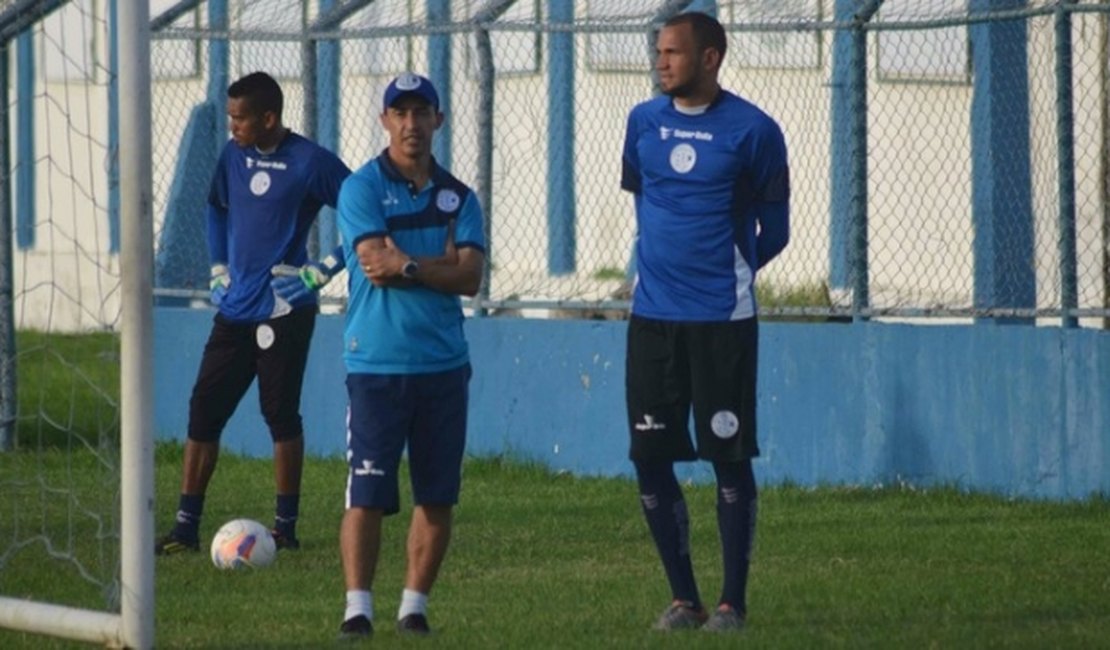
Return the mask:
[[458, 296], [426, 286], [379, 287], [361, 273], [355, 247], [389, 235], [411, 256], [443, 255], [447, 227], [455, 245], [485, 251], [474, 192], [432, 163], [416, 191], [383, 152], [355, 171], [340, 193], [339, 223], [350, 278], [343, 358], [349, 373], [437, 373], [470, 362]]

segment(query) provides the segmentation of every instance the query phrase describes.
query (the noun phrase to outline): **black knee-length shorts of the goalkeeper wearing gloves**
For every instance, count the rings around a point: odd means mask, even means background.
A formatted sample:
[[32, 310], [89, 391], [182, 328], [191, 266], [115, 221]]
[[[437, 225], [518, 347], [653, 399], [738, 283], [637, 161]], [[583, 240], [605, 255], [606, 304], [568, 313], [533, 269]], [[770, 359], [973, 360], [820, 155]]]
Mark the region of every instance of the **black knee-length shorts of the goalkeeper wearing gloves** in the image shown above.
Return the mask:
[[255, 376], [271, 437], [282, 441], [301, 436], [301, 386], [315, 324], [316, 305], [252, 324], [216, 314], [189, 399], [189, 437], [219, 440]]

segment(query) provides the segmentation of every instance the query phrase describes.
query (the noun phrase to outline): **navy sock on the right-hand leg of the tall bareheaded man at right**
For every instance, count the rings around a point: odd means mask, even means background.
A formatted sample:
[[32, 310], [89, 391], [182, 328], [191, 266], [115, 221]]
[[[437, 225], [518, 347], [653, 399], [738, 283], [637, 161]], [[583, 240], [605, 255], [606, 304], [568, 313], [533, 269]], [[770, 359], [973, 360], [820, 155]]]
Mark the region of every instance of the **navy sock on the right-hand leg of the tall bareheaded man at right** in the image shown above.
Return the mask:
[[720, 602], [743, 615], [747, 613], [748, 566], [756, 535], [756, 478], [750, 459], [714, 463], [713, 469], [717, 475], [717, 529], [725, 570]]

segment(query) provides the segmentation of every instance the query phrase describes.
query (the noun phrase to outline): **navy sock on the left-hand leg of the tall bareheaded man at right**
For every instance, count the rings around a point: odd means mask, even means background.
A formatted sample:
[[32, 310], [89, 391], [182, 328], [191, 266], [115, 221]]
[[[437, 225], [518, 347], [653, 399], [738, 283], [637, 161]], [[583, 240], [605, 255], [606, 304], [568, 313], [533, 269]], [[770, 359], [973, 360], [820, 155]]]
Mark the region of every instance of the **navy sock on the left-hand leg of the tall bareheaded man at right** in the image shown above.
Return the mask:
[[696, 609], [702, 608], [702, 598], [694, 579], [690, 561], [689, 516], [686, 500], [675, 477], [670, 463], [634, 463], [639, 483], [640, 505], [647, 527], [655, 540], [655, 548], [663, 560], [670, 592], [675, 600], [685, 600]]

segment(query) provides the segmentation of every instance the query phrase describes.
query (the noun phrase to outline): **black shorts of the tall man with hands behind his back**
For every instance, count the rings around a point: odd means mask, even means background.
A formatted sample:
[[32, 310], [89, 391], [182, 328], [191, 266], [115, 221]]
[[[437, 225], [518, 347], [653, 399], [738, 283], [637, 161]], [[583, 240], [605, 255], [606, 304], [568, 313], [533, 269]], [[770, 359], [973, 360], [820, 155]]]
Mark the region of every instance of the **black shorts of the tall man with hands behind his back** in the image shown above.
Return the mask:
[[[628, 322], [625, 398], [633, 460], [733, 461], [756, 440], [756, 318]], [[694, 409], [697, 447], [690, 440]]]

